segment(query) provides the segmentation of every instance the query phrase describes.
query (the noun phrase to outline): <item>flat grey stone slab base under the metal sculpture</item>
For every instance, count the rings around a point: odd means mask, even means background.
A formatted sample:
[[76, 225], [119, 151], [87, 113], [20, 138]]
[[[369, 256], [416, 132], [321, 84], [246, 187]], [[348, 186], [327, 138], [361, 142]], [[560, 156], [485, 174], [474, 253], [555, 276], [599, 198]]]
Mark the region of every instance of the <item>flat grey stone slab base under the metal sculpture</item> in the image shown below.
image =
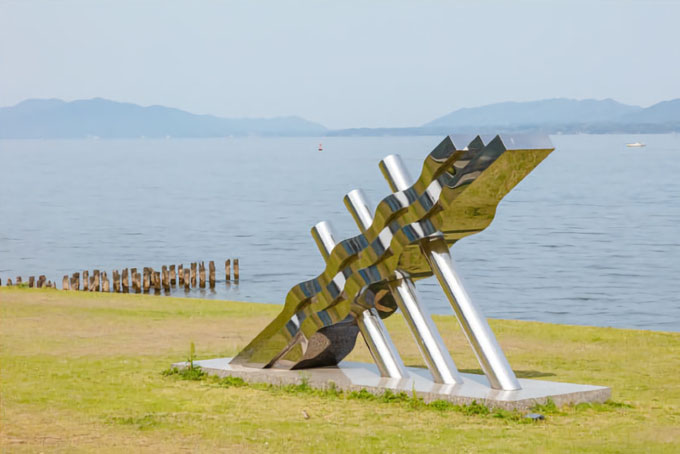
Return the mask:
[[[306, 381], [314, 388], [328, 388], [331, 383], [338, 390], [366, 391], [380, 395], [385, 390], [393, 393], [414, 392], [425, 402], [447, 400], [459, 405], [476, 401], [489, 408], [506, 410], [527, 410], [535, 404], [543, 404], [548, 398], [556, 405], [581, 402], [604, 402], [611, 396], [611, 389], [604, 386], [577, 385], [544, 380], [519, 379], [519, 391], [498, 391], [489, 387], [484, 375], [461, 374], [462, 385], [440, 385], [432, 381], [427, 369], [408, 367], [410, 377], [397, 380], [383, 378], [373, 364], [342, 362], [339, 366], [320, 367], [305, 370], [259, 369], [229, 364], [231, 358], [217, 358], [194, 361], [195, 365], [209, 375], [218, 377], [239, 377], [248, 383], [270, 383], [274, 385], [300, 384]], [[176, 363], [174, 367], [184, 368], [187, 363]]]

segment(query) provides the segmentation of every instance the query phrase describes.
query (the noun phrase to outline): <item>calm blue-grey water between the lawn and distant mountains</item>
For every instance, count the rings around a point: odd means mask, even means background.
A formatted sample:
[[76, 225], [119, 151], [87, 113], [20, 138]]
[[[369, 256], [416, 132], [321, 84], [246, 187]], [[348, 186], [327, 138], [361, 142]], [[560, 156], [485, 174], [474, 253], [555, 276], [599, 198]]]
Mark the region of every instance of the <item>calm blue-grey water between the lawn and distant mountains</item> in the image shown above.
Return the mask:
[[[0, 141], [0, 278], [238, 257], [238, 285], [190, 296], [281, 302], [323, 269], [309, 228], [356, 235], [342, 196], [377, 203], [380, 158], [417, 175], [440, 140]], [[490, 317], [680, 330], [680, 136], [553, 142], [491, 227], [452, 249], [472, 297]], [[432, 278], [418, 288], [452, 313]]]

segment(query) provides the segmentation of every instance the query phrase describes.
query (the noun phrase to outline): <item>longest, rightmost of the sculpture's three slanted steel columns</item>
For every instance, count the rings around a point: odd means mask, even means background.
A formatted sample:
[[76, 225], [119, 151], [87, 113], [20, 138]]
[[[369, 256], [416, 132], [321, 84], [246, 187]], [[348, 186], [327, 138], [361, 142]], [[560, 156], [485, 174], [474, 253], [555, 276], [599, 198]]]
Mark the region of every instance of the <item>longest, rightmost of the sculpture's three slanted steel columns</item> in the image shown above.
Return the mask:
[[[392, 191], [403, 191], [410, 186], [411, 178], [399, 155], [390, 155], [383, 159], [380, 170]], [[491, 387], [506, 391], [521, 389], [489, 323], [463, 287], [446, 242], [443, 239], [428, 240], [421, 244], [421, 248], [453, 306]]]

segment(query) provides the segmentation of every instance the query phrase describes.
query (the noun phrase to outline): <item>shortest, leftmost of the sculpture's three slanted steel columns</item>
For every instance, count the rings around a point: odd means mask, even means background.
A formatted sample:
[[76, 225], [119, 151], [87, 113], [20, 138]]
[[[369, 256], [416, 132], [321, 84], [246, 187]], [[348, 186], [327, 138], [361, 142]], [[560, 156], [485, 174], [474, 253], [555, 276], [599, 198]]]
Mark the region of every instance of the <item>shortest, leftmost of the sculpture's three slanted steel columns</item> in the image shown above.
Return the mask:
[[[321, 255], [324, 259], [327, 258], [336, 244], [331, 225], [325, 221], [319, 222], [312, 227], [312, 237]], [[363, 311], [357, 317], [357, 324], [380, 375], [397, 379], [408, 377], [406, 366], [377, 311], [375, 309]]]

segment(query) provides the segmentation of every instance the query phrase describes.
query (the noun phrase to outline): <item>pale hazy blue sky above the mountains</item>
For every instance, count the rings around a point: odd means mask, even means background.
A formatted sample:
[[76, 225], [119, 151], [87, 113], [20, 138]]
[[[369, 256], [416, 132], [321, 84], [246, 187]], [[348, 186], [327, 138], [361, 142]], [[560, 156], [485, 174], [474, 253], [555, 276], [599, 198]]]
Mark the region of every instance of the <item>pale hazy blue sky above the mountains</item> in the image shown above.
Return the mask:
[[0, 0], [0, 105], [105, 97], [333, 128], [680, 97], [680, 2]]

